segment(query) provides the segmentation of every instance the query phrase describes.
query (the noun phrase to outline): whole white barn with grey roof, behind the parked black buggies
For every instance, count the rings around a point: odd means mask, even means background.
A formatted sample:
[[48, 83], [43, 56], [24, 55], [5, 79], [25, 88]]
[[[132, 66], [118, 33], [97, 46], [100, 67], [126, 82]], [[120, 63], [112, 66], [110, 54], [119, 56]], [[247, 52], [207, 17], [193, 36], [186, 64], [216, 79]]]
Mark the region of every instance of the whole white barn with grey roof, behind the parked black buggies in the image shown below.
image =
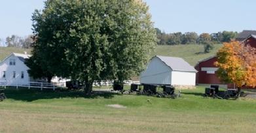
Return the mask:
[[196, 70], [179, 57], [156, 55], [141, 72], [140, 83], [152, 85], [196, 85]]

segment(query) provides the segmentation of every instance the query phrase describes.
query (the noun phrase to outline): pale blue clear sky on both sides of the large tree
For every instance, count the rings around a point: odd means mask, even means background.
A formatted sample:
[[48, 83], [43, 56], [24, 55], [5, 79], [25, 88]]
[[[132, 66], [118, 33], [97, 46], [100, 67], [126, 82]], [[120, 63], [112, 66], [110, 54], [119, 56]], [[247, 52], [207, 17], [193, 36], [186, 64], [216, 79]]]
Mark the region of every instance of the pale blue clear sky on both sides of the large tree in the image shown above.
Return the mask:
[[[0, 0], [0, 38], [31, 35], [31, 15], [44, 0]], [[143, 0], [166, 33], [256, 30], [255, 0]]]

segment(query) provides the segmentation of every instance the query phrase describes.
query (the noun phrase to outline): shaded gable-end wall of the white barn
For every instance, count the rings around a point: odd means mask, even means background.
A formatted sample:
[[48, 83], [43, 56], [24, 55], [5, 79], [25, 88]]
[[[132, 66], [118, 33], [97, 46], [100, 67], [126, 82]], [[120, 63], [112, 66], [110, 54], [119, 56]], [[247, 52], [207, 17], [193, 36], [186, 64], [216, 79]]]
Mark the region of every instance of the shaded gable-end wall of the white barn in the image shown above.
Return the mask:
[[141, 72], [140, 82], [148, 84], [170, 85], [172, 69], [165, 65], [158, 57], [151, 59], [144, 72]]

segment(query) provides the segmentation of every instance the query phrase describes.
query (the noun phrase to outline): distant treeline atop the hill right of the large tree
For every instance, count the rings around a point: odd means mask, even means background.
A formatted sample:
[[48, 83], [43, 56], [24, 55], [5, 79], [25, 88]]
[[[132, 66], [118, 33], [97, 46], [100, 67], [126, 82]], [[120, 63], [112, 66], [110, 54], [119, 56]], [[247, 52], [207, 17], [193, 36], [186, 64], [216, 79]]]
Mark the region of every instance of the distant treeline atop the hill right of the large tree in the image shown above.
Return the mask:
[[214, 44], [230, 42], [237, 37], [238, 33], [234, 31], [223, 31], [218, 33], [202, 33], [198, 35], [195, 32], [187, 33], [164, 33], [156, 28], [158, 45], [177, 45], [177, 44], [205, 44], [212, 42]]

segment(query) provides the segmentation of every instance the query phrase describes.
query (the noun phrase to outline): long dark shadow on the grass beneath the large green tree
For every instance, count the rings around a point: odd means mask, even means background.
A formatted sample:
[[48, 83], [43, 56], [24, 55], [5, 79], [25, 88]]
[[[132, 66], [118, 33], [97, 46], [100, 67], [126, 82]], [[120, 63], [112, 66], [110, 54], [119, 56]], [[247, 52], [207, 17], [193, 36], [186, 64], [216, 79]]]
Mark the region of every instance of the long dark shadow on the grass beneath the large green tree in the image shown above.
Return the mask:
[[113, 98], [117, 93], [103, 92], [92, 93], [86, 95], [83, 91], [67, 91], [67, 90], [43, 90], [39, 89], [6, 89], [5, 95], [9, 99], [22, 100], [26, 102], [33, 102], [39, 99], [53, 99], [53, 98]]

